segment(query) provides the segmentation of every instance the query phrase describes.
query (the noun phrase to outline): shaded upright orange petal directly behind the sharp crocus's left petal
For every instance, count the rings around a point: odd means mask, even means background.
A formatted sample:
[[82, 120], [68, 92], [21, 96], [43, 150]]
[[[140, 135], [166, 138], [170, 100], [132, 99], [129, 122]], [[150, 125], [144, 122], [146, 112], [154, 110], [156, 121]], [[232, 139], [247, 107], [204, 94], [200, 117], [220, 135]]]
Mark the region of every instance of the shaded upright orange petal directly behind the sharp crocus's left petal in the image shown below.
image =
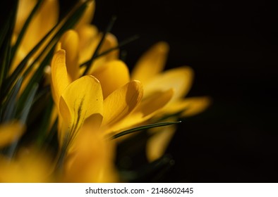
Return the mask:
[[79, 65], [78, 65], [78, 34], [74, 30], [68, 30], [63, 34], [60, 39], [61, 49], [66, 51], [66, 70], [68, 71], [68, 77], [71, 81], [77, 80], [79, 77]]

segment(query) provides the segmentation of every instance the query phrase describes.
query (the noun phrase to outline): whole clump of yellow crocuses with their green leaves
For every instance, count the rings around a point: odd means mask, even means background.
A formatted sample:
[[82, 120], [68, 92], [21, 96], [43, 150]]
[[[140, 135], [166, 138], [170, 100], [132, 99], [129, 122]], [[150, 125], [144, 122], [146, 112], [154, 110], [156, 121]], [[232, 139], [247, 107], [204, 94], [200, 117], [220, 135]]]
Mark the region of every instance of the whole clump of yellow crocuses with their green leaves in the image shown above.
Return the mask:
[[138, 181], [116, 162], [118, 146], [150, 132], [143, 174], [152, 171], [180, 118], [209, 105], [184, 98], [191, 68], [162, 72], [164, 42], [130, 74], [119, 48], [132, 39], [118, 43], [114, 18], [104, 32], [91, 24], [95, 1], [64, 15], [55, 0], [12, 5], [0, 37], [0, 182]]

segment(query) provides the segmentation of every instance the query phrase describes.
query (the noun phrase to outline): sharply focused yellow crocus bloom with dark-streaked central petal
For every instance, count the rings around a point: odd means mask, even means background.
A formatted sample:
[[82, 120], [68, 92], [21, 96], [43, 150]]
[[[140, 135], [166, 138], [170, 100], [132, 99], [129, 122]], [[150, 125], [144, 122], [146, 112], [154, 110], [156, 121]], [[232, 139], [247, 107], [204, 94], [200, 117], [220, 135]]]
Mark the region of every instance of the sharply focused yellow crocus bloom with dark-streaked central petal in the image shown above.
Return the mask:
[[93, 114], [103, 117], [103, 128], [123, 120], [140, 103], [143, 87], [133, 80], [104, 98], [101, 83], [92, 75], [71, 82], [66, 70], [66, 52], [59, 50], [52, 60], [52, 95], [62, 117], [60, 119], [66, 125], [59, 133], [62, 143], [65, 136], [80, 129], [86, 118]]

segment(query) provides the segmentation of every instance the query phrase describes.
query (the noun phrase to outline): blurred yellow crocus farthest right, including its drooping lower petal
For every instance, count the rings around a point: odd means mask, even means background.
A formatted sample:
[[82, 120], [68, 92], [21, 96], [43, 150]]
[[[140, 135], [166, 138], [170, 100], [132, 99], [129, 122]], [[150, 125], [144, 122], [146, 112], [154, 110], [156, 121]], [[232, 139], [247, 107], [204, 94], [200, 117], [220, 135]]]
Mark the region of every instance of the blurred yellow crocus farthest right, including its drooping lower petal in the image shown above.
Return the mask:
[[[202, 112], [209, 106], [207, 96], [184, 98], [193, 83], [193, 69], [188, 66], [164, 70], [169, 45], [158, 42], [140, 57], [133, 69], [131, 79], [140, 80], [144, 86], [144, 98], [157, 91], [174, 89], [174, 95], [167, 105], [157, 114], [157, 118], [181, 112], [179, 117], [186, 117]], [[147, 144], [147, 158], [152, 161], [162, 156], [167, 148], [175, 126], [159, 129]], [[157, 130], [157, 129], [153, 129]]]

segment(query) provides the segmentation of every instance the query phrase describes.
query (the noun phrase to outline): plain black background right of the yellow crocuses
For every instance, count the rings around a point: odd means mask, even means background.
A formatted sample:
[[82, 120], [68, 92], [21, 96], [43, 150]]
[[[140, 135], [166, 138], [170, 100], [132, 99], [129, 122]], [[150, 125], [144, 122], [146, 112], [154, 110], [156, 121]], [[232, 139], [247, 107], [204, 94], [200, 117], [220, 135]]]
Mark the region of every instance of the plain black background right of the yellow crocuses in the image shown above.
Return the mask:
[[170, 45], [167, 69], [190, 65], [188, 96], [212, 106], [179, 125], [162, 182], [278, 182], [277, 7], [268, 1], [97, 0], [93, 23], [112, 33], [126, 62], [152, 44]]

